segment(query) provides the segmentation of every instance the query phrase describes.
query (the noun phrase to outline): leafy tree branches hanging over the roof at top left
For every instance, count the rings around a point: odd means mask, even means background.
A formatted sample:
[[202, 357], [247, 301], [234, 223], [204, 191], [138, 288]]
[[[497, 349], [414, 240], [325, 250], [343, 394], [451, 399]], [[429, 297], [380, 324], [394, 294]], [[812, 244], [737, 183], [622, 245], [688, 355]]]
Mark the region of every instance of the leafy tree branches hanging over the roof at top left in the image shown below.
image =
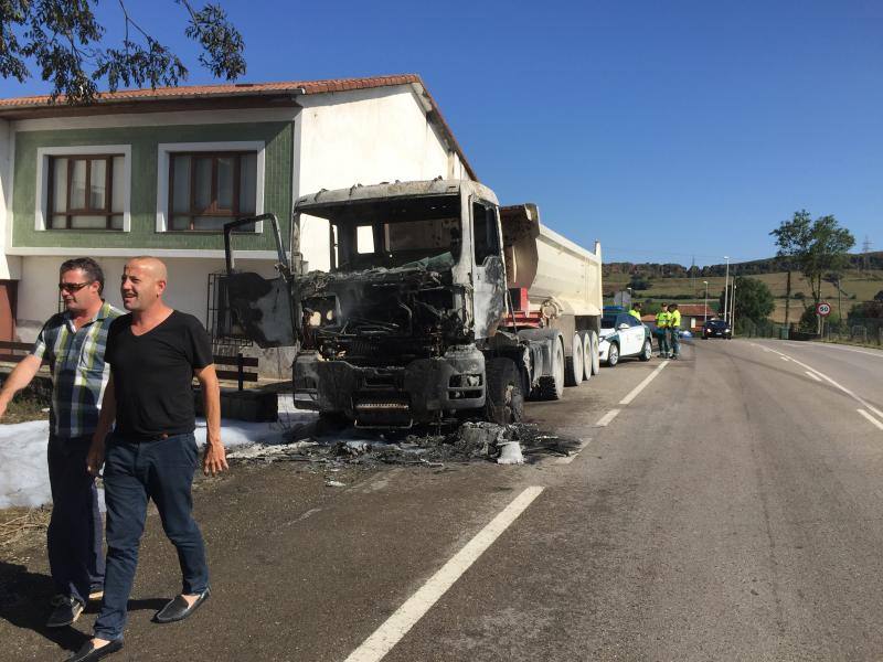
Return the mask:
[[[194, 9], [174, 0], [187, 19], [184, 34], [202, 47], [200, 63], [215, 77], [236, 79], [245, 73], [240, 32], [217, 4]], [[52, 100], [87, 104], [99, 96], [98, 84], [116, 92], [120, 85], [174, 87], [188, 70], [172, 51], [132, 20], [124, 0], [123, 40], [103, 45], [105, 28], [93, 7], [98, 0], [0, 0], [0, 76], [23, 83], [30, 66], [53, 84]], [[31, 64], [32, 63], [32, 64]]]

